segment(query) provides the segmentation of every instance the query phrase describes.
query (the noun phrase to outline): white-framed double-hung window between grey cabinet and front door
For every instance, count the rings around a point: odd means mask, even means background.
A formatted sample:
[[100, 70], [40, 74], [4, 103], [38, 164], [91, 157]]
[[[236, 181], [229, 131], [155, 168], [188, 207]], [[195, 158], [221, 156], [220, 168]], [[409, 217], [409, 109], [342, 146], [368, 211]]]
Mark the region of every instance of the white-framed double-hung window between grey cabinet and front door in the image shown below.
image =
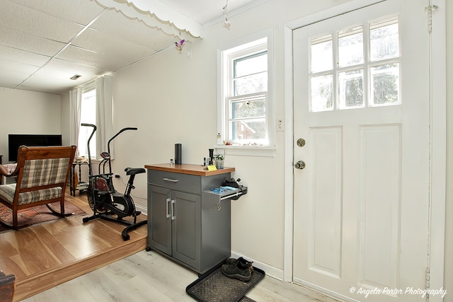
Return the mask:
[[220, 47], [218, 133], [236, 146], [273, 145], [272, 36]]

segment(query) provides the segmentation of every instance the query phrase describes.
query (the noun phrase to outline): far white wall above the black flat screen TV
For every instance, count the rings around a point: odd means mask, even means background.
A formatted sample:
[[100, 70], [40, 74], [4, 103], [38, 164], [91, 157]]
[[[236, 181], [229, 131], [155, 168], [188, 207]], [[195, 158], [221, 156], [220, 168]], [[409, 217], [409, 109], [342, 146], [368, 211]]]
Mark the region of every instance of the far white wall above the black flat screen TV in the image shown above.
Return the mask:
[[60, 100], [60, 95], [0, 87], [0, 154], [4, 163], [8, 162], [8, 134], [61, 134]]

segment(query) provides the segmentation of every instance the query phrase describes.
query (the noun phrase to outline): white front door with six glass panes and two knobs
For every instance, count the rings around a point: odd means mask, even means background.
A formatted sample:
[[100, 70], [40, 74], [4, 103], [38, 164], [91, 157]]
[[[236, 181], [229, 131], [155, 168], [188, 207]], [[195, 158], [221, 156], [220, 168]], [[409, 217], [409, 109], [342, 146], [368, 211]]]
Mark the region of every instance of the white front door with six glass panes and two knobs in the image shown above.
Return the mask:
[[293, 31], [294, 281], [345, 300], [425, 300], [425, 6], [382, 1]]

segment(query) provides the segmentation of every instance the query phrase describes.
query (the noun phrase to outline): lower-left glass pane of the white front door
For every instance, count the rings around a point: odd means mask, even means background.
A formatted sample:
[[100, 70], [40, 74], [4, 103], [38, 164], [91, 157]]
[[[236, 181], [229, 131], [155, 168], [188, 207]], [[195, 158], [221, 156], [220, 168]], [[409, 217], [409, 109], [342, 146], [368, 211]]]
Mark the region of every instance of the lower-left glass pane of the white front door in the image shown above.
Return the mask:
[[333, 76], [314, 76], [311, 78], [312, 112], [333, 110]]

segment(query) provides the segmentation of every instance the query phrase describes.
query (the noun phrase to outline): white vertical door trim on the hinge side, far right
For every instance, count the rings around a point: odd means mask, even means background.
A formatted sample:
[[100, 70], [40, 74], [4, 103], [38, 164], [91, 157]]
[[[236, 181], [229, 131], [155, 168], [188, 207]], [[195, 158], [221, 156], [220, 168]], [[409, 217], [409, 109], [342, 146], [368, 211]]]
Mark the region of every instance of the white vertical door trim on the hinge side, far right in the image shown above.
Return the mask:
[[[429, 1], [431, 3], [431, 0]], [[430, 4], [432, 5], [432, 4]], [[447, 181], [447, 0], [436, 1], [432, 12], [431, 64], [431, 210], [430, 210], [430, 288], [444, 286], [445, 268], [445, 204]], [[432, 219], [434, 218], [434, 219]], [[434, 247], [434, 248], [433, 248]], [[434, 257], [433, 257], [434, 255]], [[442, 296], [430, 297], [442, 301]]]

